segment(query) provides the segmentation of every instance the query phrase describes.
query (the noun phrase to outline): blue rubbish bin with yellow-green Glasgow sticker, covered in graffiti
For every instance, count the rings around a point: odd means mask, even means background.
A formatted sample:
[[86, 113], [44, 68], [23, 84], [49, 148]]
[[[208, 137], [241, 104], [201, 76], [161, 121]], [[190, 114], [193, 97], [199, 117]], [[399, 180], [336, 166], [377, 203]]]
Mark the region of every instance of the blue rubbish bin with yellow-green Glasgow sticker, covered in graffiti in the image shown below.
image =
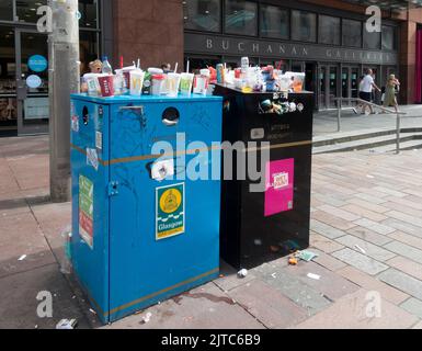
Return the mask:
[[[71, 98], [72, 265], [103, 322], [219, 274], [221, 98]], [[204, 160], [205, 159], [205, 160]]]

